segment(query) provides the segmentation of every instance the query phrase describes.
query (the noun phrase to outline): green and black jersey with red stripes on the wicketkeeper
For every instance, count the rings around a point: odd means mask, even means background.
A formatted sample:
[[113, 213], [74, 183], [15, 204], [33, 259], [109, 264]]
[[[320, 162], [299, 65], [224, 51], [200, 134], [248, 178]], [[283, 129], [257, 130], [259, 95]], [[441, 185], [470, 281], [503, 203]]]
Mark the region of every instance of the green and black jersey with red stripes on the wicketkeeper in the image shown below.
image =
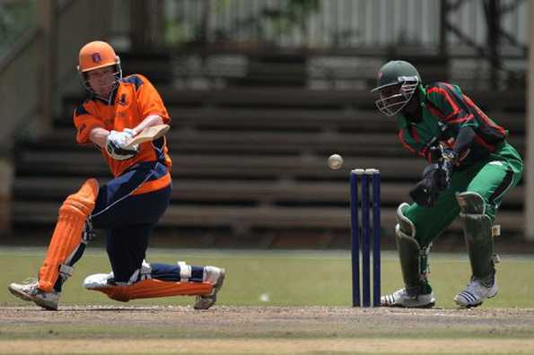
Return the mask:
[[470, 126], [473, 142], [460, 154], [460, 167], [485, 159], [503, 143], [507, 131], [464, 95], [460, 88], [446, 82], [420, 86], [421, 112], [418, 119], [398, 114], [398, 138], [408, 151], [431, 160], [430, 148], [442, 143], [452, 148], [460, 128]]

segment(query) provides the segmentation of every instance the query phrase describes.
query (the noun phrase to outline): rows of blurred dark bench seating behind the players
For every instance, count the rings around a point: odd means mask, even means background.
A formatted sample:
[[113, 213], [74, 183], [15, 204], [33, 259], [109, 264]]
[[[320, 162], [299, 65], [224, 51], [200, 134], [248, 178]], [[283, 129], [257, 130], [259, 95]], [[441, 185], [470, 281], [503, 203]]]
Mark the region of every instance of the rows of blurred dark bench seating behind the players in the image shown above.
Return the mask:
[[[376, 168], [382, 175], [384, 238], [393, 240], [395, 208], [409, 201], [407, 190], [424, 161], [403, 150], [396, 123], [373, 108], [369, 91], [272, 86], [160, 91], [172, 117], [174, 191], [159, 234], [208, 235], [213, 238], [200, 240], [217, 245], [225, 245], [223, 236], [229, 245], [236, 237], [262, 247], [346, 247], [349, 171]], [[510, 141], [524, 152], [524, 102], [516, 100], [521, 93], [470, 94], [511, 130]], [[74, 143], [70, 115], [79, 99], [64, 99], [65, 114], [52, 134], [18, 149], [15, 230], [49, 230], [59, 204], [84, 177], [109, 178], [100, 153]], [[345, 158], [342, 169], [328, 169], [334, 152]], [[506, 232], [522, 230], [522, 195], [519, 186], [503, 203], [498, 222]], [[459, 229], [458, 223], [451, 228]]]

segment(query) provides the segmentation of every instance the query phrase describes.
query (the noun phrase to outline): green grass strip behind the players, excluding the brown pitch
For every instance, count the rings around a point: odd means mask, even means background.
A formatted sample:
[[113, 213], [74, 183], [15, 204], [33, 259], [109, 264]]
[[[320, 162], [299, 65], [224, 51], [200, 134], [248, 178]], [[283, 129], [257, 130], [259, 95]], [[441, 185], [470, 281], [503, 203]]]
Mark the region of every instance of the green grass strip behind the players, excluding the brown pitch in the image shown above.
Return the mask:
[[[7, 286], [38, 273], [43, 248], [0, 248], [0, 281]], [[483, 307], [534, 307], [534, 257], [502, 255], [497, 265], [499, 294]], [[347, 251], [198, 251], [149, 250], [152, 262], [174, 264], [214, 264], [226, 268], [228, 278], [218, 300], [228, 306], [350, 306], [351, 271]], [[90, 248], [75, 265], [74, 276], [66, 283], [62, 305], [124, 305], [100, 292], [83, 289], [83, 278], [109, 272], [109, 261], [101, 248]], [[468, 281], [466, 255], [431, 255], [431, 283], [438, 307], [455, 307], [452, 298]], [[382, 293], [402, 287], [398, 257], [382, 253]], [[263, 296], [263, 298], [262, 298]], [[133, 305], [188, 305], [190, 298], [139, 299]], [[28, 303], [0, 292], [0, 305]]]

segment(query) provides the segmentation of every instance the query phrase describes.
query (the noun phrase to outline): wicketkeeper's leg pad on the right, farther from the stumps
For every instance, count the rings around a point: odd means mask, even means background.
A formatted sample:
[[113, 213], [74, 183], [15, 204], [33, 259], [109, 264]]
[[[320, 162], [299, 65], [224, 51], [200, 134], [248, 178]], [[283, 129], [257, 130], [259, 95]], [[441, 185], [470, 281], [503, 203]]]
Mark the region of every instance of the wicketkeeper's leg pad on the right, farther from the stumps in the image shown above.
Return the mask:
[[494, 238], [492, 221], [486, 214], [486, 202], [475, 192], [456, 195], [460, 204], [464, 238], [468, 248], [473, 276], [480, 280], [493, 278], [495, 274]]

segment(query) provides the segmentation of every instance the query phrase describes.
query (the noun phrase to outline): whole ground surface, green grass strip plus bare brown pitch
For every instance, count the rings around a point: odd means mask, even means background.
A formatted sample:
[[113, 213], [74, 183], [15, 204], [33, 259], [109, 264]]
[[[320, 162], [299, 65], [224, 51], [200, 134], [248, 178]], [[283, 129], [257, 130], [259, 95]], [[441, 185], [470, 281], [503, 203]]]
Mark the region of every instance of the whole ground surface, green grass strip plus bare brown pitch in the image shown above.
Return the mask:
[[[38, 247], [1, 247], [0, 280], [7, 286], [9, 282], [35, 276], [44, 255], [45, 249]], [[66, 283], [61, 307], [107, 307], [44, 312], [4, 289], [0, 292], [0, 306], [30, 307], [1, 310], [0, 353], [98, 351], [125, 355], [174, 353], [173, 349], [180, 353], [204, 352], [197, 347], [217, 354], [534, 351], [531, 342], [534, 313], [532, 309], [523, 309], [534, 308], [531, 256], [502, 255], [503, 263], [497, 269], [499, 295], [482, 306], [492, 309], [480, 311], [453, 309], [457, 307], [452, 298], [464, 288], [470, 275], [467, 256], [433, 254], [431, 281], [436, 306], [451, 309], [414, 312], [349, 307], [348, 251], [153, 249], [148, 255], [151, 262], [174, 264], [184, 260], [188, 264], [225, 267], [227, 281], [217, 305], [232, 307], [214, 307], [207, 312], [196, 312], [190, 307], [143, 308], [138, 306], [190, 305], [192, 298], [136, 299], [125, 305], [100, 292], [84, 290], [86, 275], [109, 272], [105, 251], [92, 247], [76, 264], [73, 278]], [[382, 253], [381, 275], [382, 292], [402, 287], [397, 253]], [[493, 309], [497, 307], [521, 309]]]

